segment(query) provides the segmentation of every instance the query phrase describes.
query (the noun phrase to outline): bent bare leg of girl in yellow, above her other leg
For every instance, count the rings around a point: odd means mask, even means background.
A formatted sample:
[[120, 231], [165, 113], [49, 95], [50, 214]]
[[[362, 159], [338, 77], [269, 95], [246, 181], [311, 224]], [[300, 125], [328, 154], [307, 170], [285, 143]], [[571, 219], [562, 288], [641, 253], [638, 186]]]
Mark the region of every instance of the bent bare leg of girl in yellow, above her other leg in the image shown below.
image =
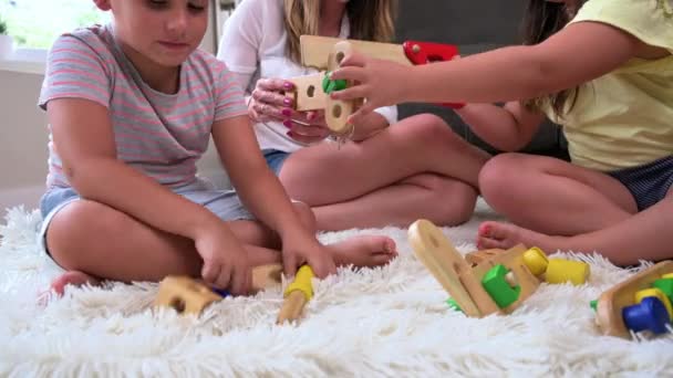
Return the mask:
[[617, 179], [545, 156], [504, 154], [479, 174], [486, 201], [511, 222], [553, 235], [604, 229], [636, 212]]

